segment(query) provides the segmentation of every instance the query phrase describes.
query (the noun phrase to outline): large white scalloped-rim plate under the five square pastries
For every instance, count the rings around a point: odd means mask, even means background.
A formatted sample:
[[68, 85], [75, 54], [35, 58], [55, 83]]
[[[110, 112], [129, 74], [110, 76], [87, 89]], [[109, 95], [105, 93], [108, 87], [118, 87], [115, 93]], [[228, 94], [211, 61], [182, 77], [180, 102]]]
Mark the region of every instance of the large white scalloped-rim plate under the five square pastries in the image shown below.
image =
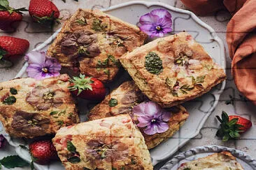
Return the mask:
[[[188, 33], [190, 33], [195, 38], [195, 40], [197, 40], [197, 42], [201, 43], [201, 45], [204, 46], [204, 49], [206, 49], [206, 52], [208, 52], [208, 54], [213, 57], [213, 60], [225, 69], [225, 51], [222, 40], [218, 38], [211, 26], [208, 26], [207, 24], [199, 20], [199, 18], [190, 11], [174, 8], [164, 3], [131, 1], [128, 3], [122, 3], [118, 6], [104, 9], [104, 12], [119, 17], [121, 20], [125, 20], [126, 22], [129, 22], [131, 24], [137, 24], [141, 15], [149, 13], [155, 8], [166, 8], [167, 10], [169, 10], [171, 15], [173, 16], [172, 33], [178, 33], [180, 31], [187, 31]], [[57, 33], [52, 35], [48, 40], [46, 40], [42, 45], [38, 46], [34, 50], [46, 50], [48, 48], [48, 45], [56, 36]], [[27, 63], [24, 64], [22, 70], [20, 70], [16, 77], [26, 77], [26, 68]], [[125, 76], [121, 76], [120, 79], [118, 79], [118, 82], [114, 82], [113, 86], [110, 86], [110, 88], [113, 89], [114, 86], [118, 86], [118, 84], [121, 84], [121, 82], [123, 81], [125, 81]], [[173, 153], [175, 153], [179, 147], [183, 146], [192, 137], [195, 137], [197, 134], [199, 134], [199, 130], [204, 125], [206, 119], [217, 105], [220, 94], [222, 93], [224, 88], [225, 82], [216, 86], [210, 92], [201, 96], [201, 98], [197, 98], [196, 100], [192, 100], [184, 104], [184, 106], [187, 108], [187, 111], [190, 112], [190, 117], [188, 118], [185, 125], [183, 125], [183, 127], [180, 128], [179, 132], [177, 132], [173, 137], [164, 141], [156, 148], [150, 150], [152, 163], [154, 165], [173, 155]], [[80, 102], [83, 103], [83, 105], [81, 106], [85, 106], [85, 101]], [[83, 114], [80, 114], [82, 120], [85, 120], [84, 117], [85, 113], [87, 113], [87, 110], [87, 108], [83, 107]], [[30, 160], [27, 154], [27, 150], [23, 150], [18, 147], [20, 141], [17, 142], [16, 139], [10, 138], [9, 141], [10, 144], [17, 147], [16, 150], [18, 155], [23, 157], [25, 160]], [[49, 166], [36, 165], [36, 168], [63, 169], [59, 166], [59, 164], [50, 164]]]

